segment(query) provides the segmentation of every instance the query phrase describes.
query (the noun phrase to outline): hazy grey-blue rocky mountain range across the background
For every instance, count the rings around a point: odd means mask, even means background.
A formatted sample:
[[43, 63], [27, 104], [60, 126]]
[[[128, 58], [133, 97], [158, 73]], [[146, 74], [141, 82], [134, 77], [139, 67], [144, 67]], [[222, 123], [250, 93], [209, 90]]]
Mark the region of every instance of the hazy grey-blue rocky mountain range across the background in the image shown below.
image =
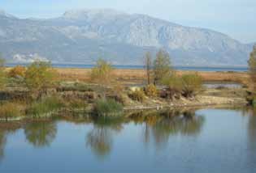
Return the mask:
[[92, 64], [102, 57], [140, 65], [145, 52], [166, 49], [175, 65], [246, 65], [252, 47], [209, 29], [110, 9], [67, 11], [54, 19], [0, 11], [0, 53], [8, 62]]

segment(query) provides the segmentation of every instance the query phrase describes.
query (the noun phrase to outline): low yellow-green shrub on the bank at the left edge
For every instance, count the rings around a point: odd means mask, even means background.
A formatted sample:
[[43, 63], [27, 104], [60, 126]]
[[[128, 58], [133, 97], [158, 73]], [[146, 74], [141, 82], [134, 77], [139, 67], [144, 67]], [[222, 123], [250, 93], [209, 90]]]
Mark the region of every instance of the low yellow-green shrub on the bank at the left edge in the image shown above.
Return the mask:
[[24, 116], [24, 105], [20, 103], [0, 104], [0, 117], [14, 118], [19, 116]]

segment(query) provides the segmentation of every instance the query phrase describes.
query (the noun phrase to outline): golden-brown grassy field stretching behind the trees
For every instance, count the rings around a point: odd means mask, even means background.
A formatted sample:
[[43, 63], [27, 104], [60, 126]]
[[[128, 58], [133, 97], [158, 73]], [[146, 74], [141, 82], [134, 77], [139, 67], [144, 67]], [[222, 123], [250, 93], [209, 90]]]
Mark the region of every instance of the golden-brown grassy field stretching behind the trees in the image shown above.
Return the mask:
[[[89, 81], [90, 69], [56, 69], [59, 77], [62, 80], [72, 81]], [[115, 78], [124, 84], [141, 83], [145, 80], [145, 70], [114, 70]], [[177, 71], [179, 75], [195, 73], [194, 71]], [[204, 81], [212, 82], [239, 82], [247, 84], [249, 82], [249, 75], [245, 72], [197, 72], [201, 75]]]

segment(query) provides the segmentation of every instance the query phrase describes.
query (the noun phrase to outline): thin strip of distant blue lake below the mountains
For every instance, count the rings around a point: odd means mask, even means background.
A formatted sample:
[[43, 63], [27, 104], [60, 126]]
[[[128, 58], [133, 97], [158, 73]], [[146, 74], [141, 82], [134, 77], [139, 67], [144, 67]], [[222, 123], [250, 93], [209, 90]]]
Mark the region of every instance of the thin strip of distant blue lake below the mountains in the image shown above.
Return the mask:
[[[15, 66], [17, 64], [7, 64], [7, 66]], [[27, 64], [20, 64], [27, 65]], [[92, 68], [94, 65], [84, 64], [53, 64], [54, 67], [59, 68]], [[143, 69], [143, 65], [113, 65], [116, 69]], [[175, 66], [176, 70], [192, 70], [192, 71], [236, 71], [242, 72], [247, 71], [247, 67], [197, 67], [197, 66]]]

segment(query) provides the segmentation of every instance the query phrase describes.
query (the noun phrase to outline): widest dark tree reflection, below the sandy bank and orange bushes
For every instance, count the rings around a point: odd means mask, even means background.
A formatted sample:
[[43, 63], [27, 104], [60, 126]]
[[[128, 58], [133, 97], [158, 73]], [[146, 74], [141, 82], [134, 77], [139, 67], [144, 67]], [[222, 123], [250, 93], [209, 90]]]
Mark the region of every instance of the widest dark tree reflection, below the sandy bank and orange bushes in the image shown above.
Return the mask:
[[139, 112], [131, 116], [132, 119], [145, 124], [144, 142], [150, 142], [153, 137], [158, 146], [167, 144], [170, 135], [195, 136], [201, 132], [204, 116], [195, 115], [195, 111], [181, 112]]

